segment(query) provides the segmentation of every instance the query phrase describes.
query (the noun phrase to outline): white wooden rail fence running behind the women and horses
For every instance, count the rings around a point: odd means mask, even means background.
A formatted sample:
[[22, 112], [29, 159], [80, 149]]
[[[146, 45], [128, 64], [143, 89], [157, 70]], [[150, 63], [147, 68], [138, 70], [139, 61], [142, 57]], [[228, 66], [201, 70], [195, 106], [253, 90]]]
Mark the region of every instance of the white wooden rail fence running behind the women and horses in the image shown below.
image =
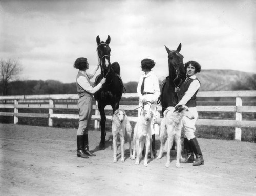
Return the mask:
[[[138, 97], [137, 93], [126, 93], [122, 97]], [[207, 126], [228, 126], [235, 127], [235, 139], [241, 141], [241, 128], [242, 127], [256, 127], [256, 121], [242, 120], [242, 112], [256, 113], [256, 106], [243, 106], [242, 99], [245, 97], [256, 97], [256, 91], [204, 91], [198, 92], [197, 97], [203, 98], [219, 98], [219, 97], [234, 97], [236, 98], [236, 105], [214, 105], [214, 106], [202, 106], [198, 105], [197, 109], [199, 112], [236, 112], [235, 120], [220, 120], [220, 119], [199, 119], [196, 125], [207, 125]], [[59, 94], [59, 95], [19, 95], [19, 96], [0, 96], [2, 108], [13, 108], [13, 112], [0, 112], [0, 116], [13, 116], [14, 124], [18, 123], [18, 117], [39, 117], [48, 118], [48, 125], [53, 125], [53, 118], [68, 118], [68, 119], [79, 119], [78, 114], [56, 114], [53, 113], [53, 109], [77, 109], [77, 104], [56, 104], [55, 100], [77, 100], [77, 94]], [[47, 104], [40, 103], [42, 101]], [[134, 110], [137, 105], [120, 105], [120, 109]], [[34, 108], [34, 109], [48, 109], [48, 113], [19, 113], [19, 108]], [[96, 105], [93, 105], [95, 110], [92, 119], [95, 120], [95, 128], [99, 127], [99, 111]], [[106, 110], [112, 110], [111, 106], [106, 106]], [[161, 111], [161, 107], [158, 108]], [[112, 116], [106, 116], [107, 120], [112, 120]], [[136, 116], [129, 116], [130, 121], [136, 122]], [[159, 124], [162, 118], [158, 116], [156, 122]]]

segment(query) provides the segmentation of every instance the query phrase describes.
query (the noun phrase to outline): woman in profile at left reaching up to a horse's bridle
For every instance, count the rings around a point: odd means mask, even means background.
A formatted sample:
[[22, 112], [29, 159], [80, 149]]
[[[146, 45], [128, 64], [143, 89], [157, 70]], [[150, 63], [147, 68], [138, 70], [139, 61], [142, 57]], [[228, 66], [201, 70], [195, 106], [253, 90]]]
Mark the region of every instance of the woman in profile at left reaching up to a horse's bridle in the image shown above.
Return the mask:
[[106, 79], [103, 78], [100, 83], [93, 87], [90, 81], [96, 71], [98, 66], [93, 70], [92, 73], [87, 73], [86, 70], [89, 69], [89, 63], [87, 58], [77, 58], [74, 63], [74, 68], [79, 69], [76, 77], [76, 88], [78, 92], [78, 111], [79, 111], [79, 127], [77, 130], [77, 157], [89, 158], [89, 156], [96, 156], [89, 151], [88, 145], [88, 124], [92, 117], [92, 100], [93, 93], [98, 91], [102, 84], [105, 83]]

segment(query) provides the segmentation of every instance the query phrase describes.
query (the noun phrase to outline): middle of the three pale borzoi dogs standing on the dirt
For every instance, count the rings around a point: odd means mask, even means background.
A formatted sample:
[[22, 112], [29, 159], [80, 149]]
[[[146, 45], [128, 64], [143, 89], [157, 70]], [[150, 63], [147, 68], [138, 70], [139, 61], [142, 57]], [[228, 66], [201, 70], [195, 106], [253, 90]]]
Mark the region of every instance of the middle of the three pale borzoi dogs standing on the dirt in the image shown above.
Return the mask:
[[135, 160], [136, 153], [136, 161], [135, 164], [138, 165], [140, 158], [142, 158], [142, 150], [144, 145], [146, 145], [146, 153], [144, 158], [144, 166], [148, 166], [147, 164], [147, 155], [150, 151], [151, 158], [154, 158], [152, 152], [152, 136], [151, 136], [151, 121], [153, 119], [153, 112], [144, 110], [143, 114], [138, 117], [138, 121], [134, 128], [134, 136], [133, 136], [133, 157], [132, 160]]

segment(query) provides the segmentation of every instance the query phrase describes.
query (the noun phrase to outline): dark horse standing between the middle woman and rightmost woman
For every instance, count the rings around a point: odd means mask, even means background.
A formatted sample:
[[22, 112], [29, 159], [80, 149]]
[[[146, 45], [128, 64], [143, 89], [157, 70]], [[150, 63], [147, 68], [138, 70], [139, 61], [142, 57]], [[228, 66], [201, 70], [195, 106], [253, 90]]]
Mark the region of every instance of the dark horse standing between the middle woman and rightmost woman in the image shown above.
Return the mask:
[[165, 46], [168, 53], [169, 76], [162, 82], [160, 101], [163, 112], [169, 106], [176, 106], [179, 102], [177, 93], [174, 91], [179, 87], [181, 81], [186, 77], [186, 71], [183, 64], [183, 56], [180, 54], [181, 43], [177, 50], [169, 50]]

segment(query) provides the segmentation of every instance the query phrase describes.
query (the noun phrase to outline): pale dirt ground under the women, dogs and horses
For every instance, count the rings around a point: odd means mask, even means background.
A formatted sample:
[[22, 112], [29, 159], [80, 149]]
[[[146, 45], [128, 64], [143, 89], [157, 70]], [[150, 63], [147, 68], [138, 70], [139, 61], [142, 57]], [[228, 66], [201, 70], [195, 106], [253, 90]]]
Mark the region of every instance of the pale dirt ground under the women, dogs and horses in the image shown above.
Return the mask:
[[[256, 143], [198, 139], [205, 164], [165, 168], [166, 153], [135, 165], [113, 163], [111, 141], [99, 150], [89, 131], [89, 159], [76, 156], [76, 130], [0, 124], [1, 195], [256, 195]], [[109, 139], [111, 132], [107, 133]], [[160, 141], [156, 137], [159, 152]], [[120, 154], [120, 146], [118, 148]]]

